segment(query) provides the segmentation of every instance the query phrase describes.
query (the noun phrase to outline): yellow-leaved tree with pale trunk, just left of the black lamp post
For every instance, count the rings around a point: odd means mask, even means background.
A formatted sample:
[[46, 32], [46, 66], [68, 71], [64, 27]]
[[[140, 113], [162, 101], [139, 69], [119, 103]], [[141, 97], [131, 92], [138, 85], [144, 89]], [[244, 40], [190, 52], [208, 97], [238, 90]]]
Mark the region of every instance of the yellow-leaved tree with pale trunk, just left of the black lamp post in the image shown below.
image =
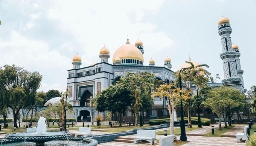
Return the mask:
[[[174, 108], [176, 106], [175, 101], [179, 101], [180, 98], [189, 98], [189, 91], [182, 91], [182, 96], [180, 96], [180, 89], [174, 88], [174, 84], [163, 84], [157, 88], [157, 91], [152, 92], [152, 97], [161, 97], [164, 101], [167, 101], [167, 109], [170, 115], [170, 134], [173, 134], [174, 130]], [[167, 97], [167, 100], [165, 99]]]

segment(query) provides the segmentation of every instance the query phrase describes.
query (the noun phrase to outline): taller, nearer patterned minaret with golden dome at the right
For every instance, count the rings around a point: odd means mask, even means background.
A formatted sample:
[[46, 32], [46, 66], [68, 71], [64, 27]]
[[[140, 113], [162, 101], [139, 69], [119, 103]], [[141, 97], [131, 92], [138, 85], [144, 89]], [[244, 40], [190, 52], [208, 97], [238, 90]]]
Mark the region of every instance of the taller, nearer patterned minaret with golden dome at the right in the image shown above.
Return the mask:
[[232, 50], [232, 41], [230, 34], [232, 28], [229, 24], [229, 19], [222, 17], [218, 22], [218, 33], [221, 36], [222, 53], [219, 55], [223, 60], [224, 79], [221, 80], [223, 85], [237, 85], [240, 84], [241, 78], [237, 76], [236, 71], [236, 52]]

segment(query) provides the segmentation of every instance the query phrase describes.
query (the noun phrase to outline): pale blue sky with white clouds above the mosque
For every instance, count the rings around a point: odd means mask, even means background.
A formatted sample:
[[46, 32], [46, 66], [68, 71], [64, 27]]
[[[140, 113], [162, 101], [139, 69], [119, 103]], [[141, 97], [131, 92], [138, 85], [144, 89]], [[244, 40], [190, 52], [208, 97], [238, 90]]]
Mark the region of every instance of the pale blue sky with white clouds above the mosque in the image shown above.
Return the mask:
[[[72, 58], [81, 67], [99, 63], [99, 50], [114, 51], [143, 41], [144, 64], [176, 71], [189, 59], [208, 64], [223, 79], [218, 20], [230, 19], [232, 43], [239, 46], [245, 88], [255, 85], [255, 0], [0, 0], [0, 66], [15, 64], [43, 75], [40, 91], [64, 91]], [[221, 79], [216, 82], [221, 82]]]

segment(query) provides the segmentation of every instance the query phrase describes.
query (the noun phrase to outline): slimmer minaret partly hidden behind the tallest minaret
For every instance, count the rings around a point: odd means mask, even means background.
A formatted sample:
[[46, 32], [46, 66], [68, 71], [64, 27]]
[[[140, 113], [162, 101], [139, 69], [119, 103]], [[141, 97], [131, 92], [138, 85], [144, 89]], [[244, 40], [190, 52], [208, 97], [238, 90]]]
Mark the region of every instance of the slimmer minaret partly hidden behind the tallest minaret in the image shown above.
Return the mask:
[[[235, 57], [235, 62], [236, 62], [236, 73], [237, 76], [241, 79], [241, 84], [244, 87], [244, 78], [243, 78], [243, 74], [244, 74], [244, 70], [241, 70], [241, 63], [240, 63], [240, 52], [239, 52], [239, 47], [238, 45], [233, 44], [232, 45], [232, 49], [233, 51], [236, 52], [236, 57]], [[246, 92], [247, 89], [244, 89], [244, 92]]]

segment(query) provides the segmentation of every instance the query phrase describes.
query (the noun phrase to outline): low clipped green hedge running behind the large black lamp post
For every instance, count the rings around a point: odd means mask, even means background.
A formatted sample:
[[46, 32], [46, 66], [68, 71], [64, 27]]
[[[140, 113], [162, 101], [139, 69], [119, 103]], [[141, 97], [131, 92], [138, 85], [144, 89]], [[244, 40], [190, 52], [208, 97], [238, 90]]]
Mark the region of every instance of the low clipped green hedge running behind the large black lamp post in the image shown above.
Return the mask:
[[[181, 118], [177, 118], [177, 120], [180, 120]], [[166, 118], [166, 119], [153, 119], [153, 120], [149, 120], [148, 124], [150, 125], [160, 125], [160, 124], [165, 124], [166, 121], [169, 121], [170, 118]], [[184, 117], [184, 122], [187, 123], [187, 117]], [[201, 124], [203, 126], [209, 126], [210, 125], [211, 120], [207, 119], [207, 118], [201, 118]], [[191, 123], [193, 125], [197, 125], [198, 124], [198, 118], [197, 117], [191, 117]]]

